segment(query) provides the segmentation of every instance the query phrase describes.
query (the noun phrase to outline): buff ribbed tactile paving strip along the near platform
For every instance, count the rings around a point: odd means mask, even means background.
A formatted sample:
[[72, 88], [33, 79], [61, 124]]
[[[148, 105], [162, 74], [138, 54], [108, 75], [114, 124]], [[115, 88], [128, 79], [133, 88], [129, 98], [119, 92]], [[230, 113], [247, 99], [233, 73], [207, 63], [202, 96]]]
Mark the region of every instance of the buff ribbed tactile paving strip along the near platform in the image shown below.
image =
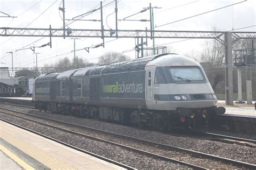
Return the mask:
[[49, 167], [50, 169], [74, 169], [74, 167], [66, 165], [64, 164], [64, 162], [59, 161], [42, 151], [36, 150], [36, 148], [24, 143], [21, 140], [18, 140], [10, 136], [9, 134], [3, 132], [2, 130], [0, 130], [0, 133], [3, 140], [17, 147], [19, 150], [23, 151], [24, 153], [30, 155], [32, 158], [41, 162], [43, 165], [45, 165], [46, 167]]

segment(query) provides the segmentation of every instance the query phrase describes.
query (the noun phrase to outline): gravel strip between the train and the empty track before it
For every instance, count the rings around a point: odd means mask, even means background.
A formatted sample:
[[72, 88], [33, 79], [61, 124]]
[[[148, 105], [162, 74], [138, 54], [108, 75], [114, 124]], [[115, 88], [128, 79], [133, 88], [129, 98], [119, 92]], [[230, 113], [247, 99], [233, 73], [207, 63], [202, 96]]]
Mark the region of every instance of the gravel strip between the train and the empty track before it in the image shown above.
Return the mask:
[[[39, 112], [35, 110], [30, 110], [30, 109], [26, 109], [26, 110], [32, 114], [46, 116], [49, 118], [55, 118], [61, 121], [75, 123], [79, 125], [89, 126], [95, 129], [124, 134], [127, 136], [154, 141], [157, 143], [188, 148], [190, 150], [218, 155], [220, 157], [230, 158], [234, 160], [244, 161], [250, 164], [256, 163], [255, 161], [256, 148], [240, 146], [236, 144], [234, 145], [225, 144], [225, 143], [220, 143], [218, 141], [198, 140], [193, 138], [171, 136], [171, 135], [163, 134], [160, 132], [139, 130], [139, 129], [123, 126], [123, 125], [112, 124], [112, 123], [97, 121], [93, 119], [83, 119], [83, 118], [72, 117], [72, 116], [56, 115], [56, 114], [50, 114], [48, 112], [45, 113], [45, 112]], [[230, 134], [227, 134], [227, 135], [230, 135]]]

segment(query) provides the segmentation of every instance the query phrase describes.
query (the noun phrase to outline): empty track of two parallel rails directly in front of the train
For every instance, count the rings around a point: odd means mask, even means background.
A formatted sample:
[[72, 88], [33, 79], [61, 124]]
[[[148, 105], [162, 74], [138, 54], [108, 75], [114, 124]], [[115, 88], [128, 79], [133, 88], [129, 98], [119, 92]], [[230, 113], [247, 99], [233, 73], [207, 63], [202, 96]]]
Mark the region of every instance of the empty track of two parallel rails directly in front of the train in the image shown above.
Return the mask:
[[[100, 133], [104, 133], [104, 134], [110, 134], [112, 136], [116, 136], [116, 137], [119, 137], [119, 138], [126, 138], [126, 139], [129, 139], [129, 140], [133, 140], [133, 141], [137, 141], [137, 142], [143, 143], [144, 145], [154, 146], [154, 147], [158, 147], [158, 148], [161, 148], [161, 149], [164, 149], [164, 150], [183, 152], [183, 153], [187, 153], [187, 154], [192, 155], [192, 157], [200, 157], [200, 158], [205, 158], [205, 159], [217, 160], [217, 161], [224, 162], [225, 164], [232, 164], [232, 165], [235, 165], [235, 166], [238, 166], [238, 167], [245, 167], [245, 168], [250, 168], [250, 169], [251, 168], [253, 168], [253, 169], [256, 168], [256, 165], [253, 165], [253, 164], [248, 164], [246, 162], [241, 162], [241, 161], [237, 161], [237, 160], [232, 160], [232, 159], [227, 159], [227, 158], [223, 158], [223, 157], [218, 157], [218, 156], [211, 155], [211, 154], [206, 154], [206, 153], [201, 153], [201, 152], [197, 152], [197, 151], [192, 151], [192, 150], [188, 150], [186, 148], [180, 148], [180, 147], [174, 147], [174, 146], [170, 146], [170, 145], [164, 145], [164, 144], [160, 144], [160, 143], [155, 143], [155, 142], [149, 141], [149, 140], [143, 140], [143, 139], [139, 139], [139, 138], [124, 136], [122, 134], [117, 134], [117, 133], [97, 130], [97, 129], [89, 128], [89, 127], [86, 127], [86, 126], [81, 126], [81, 125], [77, 125], [77, 124], [71, 124], [71, 123], [68, 123], [68, 122], [62, 122], [62, 121], [58, 121], [56, 119], [50, 119], [50, 118], [47, 118], [47, 117], [32, 115], [32, 114], [28, 114], [28, 113], [25, 113], [25, 112], [19, 112], [19, 111], [10, 110], [10, 109], [3, 109], [3, 110], [15, 112], [17, 114], [23, 114], [23, 115], [27, 115], [27, 116], [32, 116], [32, 117], [36, 117], [36, 118], [41, 118], [41, 119], [43, 118], [43, 119], [46, 119], [48, 121], [53, 121], [53, 122], [61, 123], [61, 124], [65, 124], [65, 125], [71, 125], [71, 126], [75, 126], [77, 128], [83, 128], [83, 129], [87, 129], [87, 130], [90, 130], [90, 131], [100, 132]], [[3, 111], [1, 111], [1, 112], [3, 112]], [[3, 113], [7, 114], [6, 112], [3, 112]], [[23, 118], [23, 119], [28, 119], [28, 118], [24, 118], [24, 117], [18, 116], [18, 115], [13, 115], [13, 114], [9, 114], [9, 115], [16, 116], [16, 117]], [[37, 122], [37, 123], [43, 124], [42, 122], [38, 122], [38, 121], [35, 121], [35, 120], [31, 120], [31, 119], [28, 119], [28, 121], [33, 121], [33, 122]], [[52, 126], [52, 125], [49, 125], [49, 124], [46, 124], [46, 125]], [[55, 126], [52, 126], [52, 128], [59, 129], [58, 127], [55, 127]], [[62, 130], [69, 131], [69, 130], [66, 130], [66, 129], [62, 129]], [[94, 140], [100, 140], [100, 141], [104, 141], [106, 143], [111, 143], [113, 145], [124, 147], [124, 148], [126, 148], [128, 150], [133, 150], [133, 151], [136, 151], [136, 152], [139, 152], [139, 153], [143, 153], [143, 154], [146, 154], [146, 155], [151, 155], [151, 157], [154, 157], [154, 158], [158, 158], [158, 159], [162, 159], [162, 160], [168, 160], [168, 161], [172, 161], [172, 162], [178, 162], [179, 164], [187, 165], [188, 167], [191, 167], [191, 168], [205, 169], [204, 167], [188, 164], [188, 163], [186, 163], [184, 161], [179, 161], [177, 159], [163, 157], [163, 156], [158, 155], [158, 154], [154, 154], [154, 153], [138, 150], [137, 148], [132, 148], [132, 147], [125, 146], [125, 145], [120, 145], [120, 144], [117, 144], [117, 143], [112, 143], [111, 141], [106, 141], [104, 139], [99, 139], [99, 138], [95, 138], [95, 137], [92, 137], [92, 136], [87, 136], [85, 134], [77, 133], [77, 132], [74, 132], [74, 131], [69, 131], [69, 132], [70, 133], [76, 133], [78, 135], [82, 135], [82, 136], [85, 136], [87, 138], [93, 138]]]

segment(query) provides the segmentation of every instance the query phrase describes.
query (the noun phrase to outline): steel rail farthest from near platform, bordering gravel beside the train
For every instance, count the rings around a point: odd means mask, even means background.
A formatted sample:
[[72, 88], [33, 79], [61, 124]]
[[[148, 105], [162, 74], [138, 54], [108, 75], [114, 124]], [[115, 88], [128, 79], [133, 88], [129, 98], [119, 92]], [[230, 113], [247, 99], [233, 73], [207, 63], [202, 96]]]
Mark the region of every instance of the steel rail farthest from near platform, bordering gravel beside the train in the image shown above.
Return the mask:
[[[1, 108], [1, 109], [4, 109], [4, 108]], [[156, 143], [154, 141], [149, 141], [149, 140], [144, 140], [144, 139], [140, 139], [140, 138], [134, 138], [134, 137], [130, 137], [130, 136], [125, 136], [125, 135], [118, 134], [118, 133], [112, 133], [112, 132], [108, 132], [108, 131], [98, 130], [98, 129], [90, 128], [90, 127], [87, 127], [87, 126], [82, 126], [82, 125], [77, 125], [77, 124], [73, 124], [73, 123], [58, 121], [56, 119], [51, 119], [51, 118], [47, 118], [47, 117], [43, 117], [43, 116], [37, 116], [37, 115], [33, 115], [33, 114], [28, 114], [28, 113], [20, 112], [20, 111], [16, 111], [16, 110], [11, 110], [11, 109], [4, 109], [4, 110], [14, 111], [14, 112], [17, 112], [18, 114], [25, 114], [25, 115], [30, 115], [30, 116], [34, 116], [34, 117], [44, 118], [44, 119], [48, 119], [49, 121], [55, 121], [55, 122], [58, 122], [58, 123], [69, 124], [69, 125], [77, 126], [78, 128], [85, 128], [85, 129], [95, 130], [95, 131], [98, 131], [98, 132], [108, 133], [108, 134], [112, 134], [114, 136], [119, 136], [119, 137], [123, 137], [123, 138], [128, 138], [128, 139], [136, 140], [136, 141], [145, 143], [145, 144], [150, 145], [150, 146], [159, 147], [159, 148], [163, 148], [163, 149], [171, 150], [171, 151], [185, 152], [185, 153], [191, 154], [193, 156], [210, 158], [210, 159], [218, 160], [218, 161], [221, 161], [221, 162], [226, 162], [228, 164], [232, 164], [232, 165], [235, 165], [235, 166], [254, 168], [254, 169], [256, 168], [256, 165], [249, 164], [247, 162], [242, 162], [242, 161], [238, 161], [238, 160], [232, 160], [232, 159], [228, 159], [228, 158], [224, 158], [224, 157], [219, 157], [219, 156], [212, 155], [212, 154], [207, 154], [207, 153], [197, 152], [197, 151], [193, 151], [193, 150], [188, 150], [186, 148], [181, 148], [181, 147], [175, 147], [175, 146], [171, 146], [171, 145], [160, 144], [160, 143]]]

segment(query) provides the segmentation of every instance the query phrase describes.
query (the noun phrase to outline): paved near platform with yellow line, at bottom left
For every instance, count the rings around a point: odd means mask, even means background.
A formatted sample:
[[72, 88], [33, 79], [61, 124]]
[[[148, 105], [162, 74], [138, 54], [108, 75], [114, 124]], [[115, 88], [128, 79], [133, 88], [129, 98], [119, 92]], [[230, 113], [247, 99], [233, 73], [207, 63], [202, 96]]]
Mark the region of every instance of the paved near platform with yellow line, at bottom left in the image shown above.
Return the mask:
[[124, 169], [3, 121], [0, 134], [0, 169]]

